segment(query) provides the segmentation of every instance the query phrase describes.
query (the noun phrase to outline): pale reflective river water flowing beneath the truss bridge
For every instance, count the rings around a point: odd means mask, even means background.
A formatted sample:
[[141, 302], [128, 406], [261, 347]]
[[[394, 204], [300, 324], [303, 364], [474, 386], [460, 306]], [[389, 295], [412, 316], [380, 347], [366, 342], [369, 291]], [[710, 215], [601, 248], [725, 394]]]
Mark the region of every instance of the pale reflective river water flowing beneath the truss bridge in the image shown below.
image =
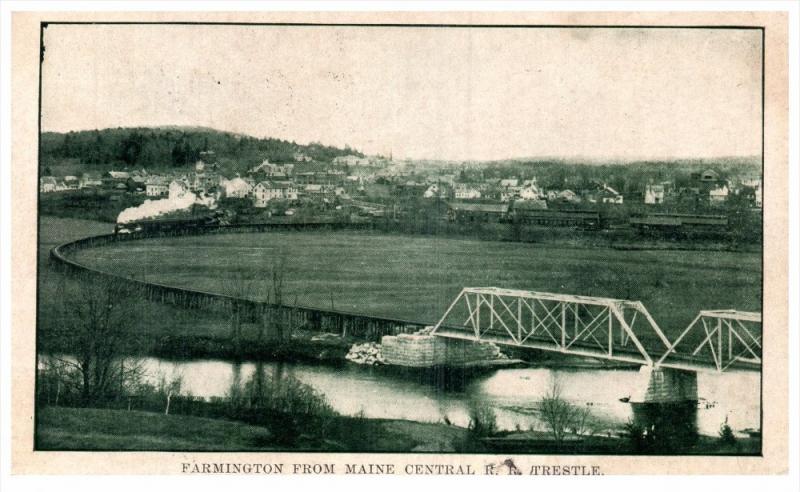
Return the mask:
[[[181, 393], [224, 397], [232, 384], [244, 383], [257, 370], [269, 376], [293, 376], [323, 393], [343, 415], [363, 412], [368, 418], [419, 422], [450, 421], [466, 426], [475, 402], [491, 407], [500, 429], [545, 427], [534, 410], [554, 385], [563, 398], [588, 407], [593, 427], [615, 432], [632, 419], [630, 396], [646, 378], [635, 370], [515, 368], [497, 369], [471, 377], [457, 389], [440, 389], [409, 374], [386, 368], [348, 364], [343, 367], [295, 362], [233, 363], [220, 360], [144, 362], [153, 382], [182, 378]], [[697, 430], [716, 436], [727, 418], [731, 428], [760, 429], [760, 377], [756, 372], [699, 373]]]

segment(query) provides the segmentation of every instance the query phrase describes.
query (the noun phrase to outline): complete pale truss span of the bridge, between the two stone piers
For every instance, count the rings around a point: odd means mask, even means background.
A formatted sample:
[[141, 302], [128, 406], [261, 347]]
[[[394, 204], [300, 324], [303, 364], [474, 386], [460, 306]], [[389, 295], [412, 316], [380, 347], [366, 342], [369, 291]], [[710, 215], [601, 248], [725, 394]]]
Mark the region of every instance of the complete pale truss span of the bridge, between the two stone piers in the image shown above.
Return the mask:
[[432, 333], [648, 366], [672, 347], [639, 301], [497, 287], [464, 288]]

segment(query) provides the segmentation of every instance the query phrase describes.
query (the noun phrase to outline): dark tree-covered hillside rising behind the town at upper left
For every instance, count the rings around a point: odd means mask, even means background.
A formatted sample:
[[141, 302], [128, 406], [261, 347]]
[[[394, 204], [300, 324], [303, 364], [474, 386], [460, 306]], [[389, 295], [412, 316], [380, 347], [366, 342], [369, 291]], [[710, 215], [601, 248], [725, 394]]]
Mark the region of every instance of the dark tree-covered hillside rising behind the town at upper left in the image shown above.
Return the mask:
[[358, 151], [318, 143], [300, 145], [275, 138], [255, 138], [203, 127], [109, 128], [41, 135], [40, 165], [53, 174], [111, 169], [176, 169], [194, 164], [211, 150], [220, 167], [233, 172], [269, 159], [289, 162], [295, 153], [316, 161]]

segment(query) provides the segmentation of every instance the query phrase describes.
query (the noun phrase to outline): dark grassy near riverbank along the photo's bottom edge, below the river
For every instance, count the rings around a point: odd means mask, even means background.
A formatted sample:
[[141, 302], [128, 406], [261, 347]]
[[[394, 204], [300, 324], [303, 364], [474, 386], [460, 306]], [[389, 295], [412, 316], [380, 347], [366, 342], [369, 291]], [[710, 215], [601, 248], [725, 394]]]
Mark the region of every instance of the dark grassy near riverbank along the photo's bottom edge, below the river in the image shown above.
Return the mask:
[[[45, 407], [37, 413], [36, 449], [47, 451], [281, 451], [264, 426], [224, 419], [97, 408]], [[722, 444], [701, 436], [681, 454], [757, 455], [760, 440]], [[625, 436], [568, 436], [557, 444], [547, 432], [505, 432], [474, 438], [468, 429], [397, 419], [337, 417], [321, 436], [298, 436], [292, 451], [418, 453], [629, 454]], [[641, 451], [640, 451], [641, 452]], [[647, 454], [647, 453], [645, 453]], [[657, 454], [657, 453], [656, 453]]]

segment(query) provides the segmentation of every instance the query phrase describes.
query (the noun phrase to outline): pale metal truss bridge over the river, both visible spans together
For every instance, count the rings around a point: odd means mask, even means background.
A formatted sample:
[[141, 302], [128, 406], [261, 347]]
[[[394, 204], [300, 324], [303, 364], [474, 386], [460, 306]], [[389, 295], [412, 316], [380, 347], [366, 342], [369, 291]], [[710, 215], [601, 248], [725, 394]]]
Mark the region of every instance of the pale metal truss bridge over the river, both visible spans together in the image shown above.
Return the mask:
[[700, 311], [671, 341], [639, 301], [467, 287], [432, 334], [654, 368], [761, 370], [761, 313], [735, 310]]

